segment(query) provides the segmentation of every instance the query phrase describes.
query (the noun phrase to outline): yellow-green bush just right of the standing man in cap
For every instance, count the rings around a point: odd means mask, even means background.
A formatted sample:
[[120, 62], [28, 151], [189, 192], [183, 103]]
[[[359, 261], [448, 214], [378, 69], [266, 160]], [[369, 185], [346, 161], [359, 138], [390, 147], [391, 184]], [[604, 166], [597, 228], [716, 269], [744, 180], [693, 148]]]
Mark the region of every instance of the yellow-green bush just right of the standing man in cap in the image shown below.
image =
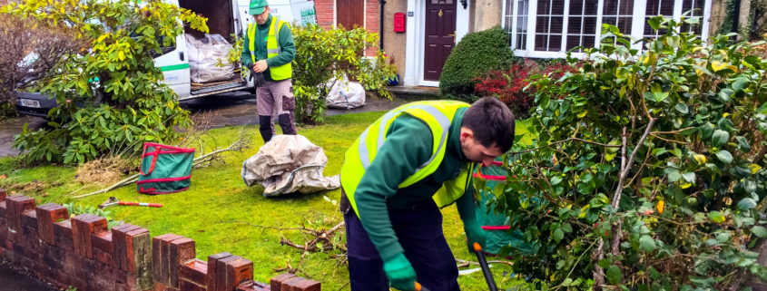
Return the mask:
[[380, 51], [374, 57], [363, 55], [366, 48], [378, 45], [379, 34], [370, 34], [364, 28], [325, 30], [313, 24], [294, 27], [292, 32], [296, 42], [296, 121], [322, 123], [331, 81], [344, 75], [358, 80], [365, 90], [391, 99], [386, 83], [394, 77], [394, 67], [386, 64], [386, 56]]

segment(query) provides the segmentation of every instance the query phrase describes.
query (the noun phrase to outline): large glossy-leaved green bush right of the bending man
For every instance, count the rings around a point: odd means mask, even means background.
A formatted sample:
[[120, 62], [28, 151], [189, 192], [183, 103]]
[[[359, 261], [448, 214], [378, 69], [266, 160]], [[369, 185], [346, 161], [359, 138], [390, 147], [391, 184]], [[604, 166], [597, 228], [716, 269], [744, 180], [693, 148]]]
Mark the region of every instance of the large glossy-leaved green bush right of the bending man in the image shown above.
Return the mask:
[[[684, 19], [694, 24], [696, 19]], [[562, 78], [534, 75], [538, 132], [489, 203], [524, 231], [516, 272], [541, 289], [740, 290], [767, 278], [767, 60], [674, 31], [628, 49], [615, 26]], [[569, 58], [568, 63], [580, 61]], [[506, 255], [506, 254], [502, 254]], [[523, 256], [525, 255], [525, 256]]]

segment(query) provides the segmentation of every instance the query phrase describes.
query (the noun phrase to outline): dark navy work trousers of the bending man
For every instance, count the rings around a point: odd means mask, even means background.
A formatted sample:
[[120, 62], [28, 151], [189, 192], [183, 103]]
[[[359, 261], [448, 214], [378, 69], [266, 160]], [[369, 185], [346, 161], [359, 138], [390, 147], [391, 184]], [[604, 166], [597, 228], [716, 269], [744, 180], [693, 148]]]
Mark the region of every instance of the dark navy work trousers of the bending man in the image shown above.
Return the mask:
[[[434, 200], [409, 209], [389, 209], [388, 216], [405, 257], [416, 270], [418, 283], [432, 291], [460, 290], [456, 258], [442, 234], [442, 213]], [[379, 251], [353, 209], [344, 213], [344, 220], [351, 291], [388, 291]]]

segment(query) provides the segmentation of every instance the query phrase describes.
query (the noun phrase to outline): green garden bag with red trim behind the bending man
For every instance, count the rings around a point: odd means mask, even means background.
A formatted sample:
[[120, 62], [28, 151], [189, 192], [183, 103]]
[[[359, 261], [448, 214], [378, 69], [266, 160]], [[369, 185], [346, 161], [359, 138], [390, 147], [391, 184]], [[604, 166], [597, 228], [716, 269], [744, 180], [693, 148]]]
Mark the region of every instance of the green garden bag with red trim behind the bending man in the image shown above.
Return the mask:
[[474, 179], [486, 181], [485, 189], [477, 189], [478, 199], [480, 199], [480, 202], [477, 203], [477, 221], [487, 232], [487, 246], [484, 251], [489, 254], [497, 254], [501, 247], [511, 245], [523, 254], [532, 254], [534, 248], [522, 238], [522, 231], [509, 229], [506, 215], [496, 213], [492, 209], [487, 211], [485, 201], [495, 195], [493, 189], [496, 189], [498, 184], [506, 182], [506, 170], [501, 167], [502, 165], [502, 161], [495, 160], [491, 166], [478, 167], [474, 173]]

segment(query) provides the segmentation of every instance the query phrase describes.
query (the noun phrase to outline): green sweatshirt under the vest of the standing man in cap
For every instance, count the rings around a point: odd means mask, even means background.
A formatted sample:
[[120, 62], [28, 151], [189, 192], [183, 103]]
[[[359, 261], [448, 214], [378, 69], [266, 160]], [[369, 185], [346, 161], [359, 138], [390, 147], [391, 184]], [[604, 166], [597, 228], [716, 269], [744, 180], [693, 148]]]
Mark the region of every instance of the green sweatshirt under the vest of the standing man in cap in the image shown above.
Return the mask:
[[[296, 57], [296, 44], [293, 43], [293, 33], [290, 31], [290, 25], [282, 25], [280, 28], [280, 35], [278, 35], [277, 38], [277, 42], [280, 44], [282, 52], [267, 59], [267, 55], [269, 54], [266, 52], [266, 38], [269, 35], [269, 27], [273, 26], [271, 24], [272, 19], [274, 19], [274, 17], [270, 14], [264, 24], [256, 25], [256, 39], [253, 44], [255, 49], [253, 51], [256, 53], [256, 61], [266, 60], [266, 64], [269, 65], [269, 67], [276, 67], [293, 62], [293, 58]], [[242, 44], [242, 64], [247, 68], [253, 63], [251, 60], [251, 50], [249, 47], [250, 40], [248, 39], [247, 31], [245, 32], [245, 39]], [[269, 69], [266, 69], [266, 71], [263, 72], [263, 77], [267, 81], [273, 81]]]

